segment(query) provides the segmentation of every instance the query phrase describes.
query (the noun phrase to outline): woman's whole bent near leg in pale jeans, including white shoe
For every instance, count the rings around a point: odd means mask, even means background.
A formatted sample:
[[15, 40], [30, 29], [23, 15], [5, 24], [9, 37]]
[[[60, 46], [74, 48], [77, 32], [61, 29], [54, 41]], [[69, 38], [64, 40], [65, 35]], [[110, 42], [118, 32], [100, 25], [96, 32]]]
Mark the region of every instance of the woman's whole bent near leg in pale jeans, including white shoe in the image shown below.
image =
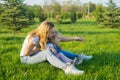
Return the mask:
[[66, 74], [83, 74], [83, 71], [77, 70], [73, 65], [67, 66], [64, 62], [58, 59], [49, 49], [38, 52], [33, 56], [21, 57], [29, 64], [35, 64], [47, 60], [53, 66], [65, 71]]

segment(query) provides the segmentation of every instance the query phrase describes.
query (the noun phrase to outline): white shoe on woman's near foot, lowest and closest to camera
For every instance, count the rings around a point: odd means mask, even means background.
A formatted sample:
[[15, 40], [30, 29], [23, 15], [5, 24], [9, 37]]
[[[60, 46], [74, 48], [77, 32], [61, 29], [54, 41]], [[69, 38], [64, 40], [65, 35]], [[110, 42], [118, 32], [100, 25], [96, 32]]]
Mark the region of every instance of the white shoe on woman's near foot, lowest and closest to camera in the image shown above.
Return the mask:
[[78, 70], [72, 64], [70, 66], [67, 66], [64, 71], [65, 71], [65, 74], [73, 74], [73, 75], [80, 75], [84, 73], [84, 71]]

